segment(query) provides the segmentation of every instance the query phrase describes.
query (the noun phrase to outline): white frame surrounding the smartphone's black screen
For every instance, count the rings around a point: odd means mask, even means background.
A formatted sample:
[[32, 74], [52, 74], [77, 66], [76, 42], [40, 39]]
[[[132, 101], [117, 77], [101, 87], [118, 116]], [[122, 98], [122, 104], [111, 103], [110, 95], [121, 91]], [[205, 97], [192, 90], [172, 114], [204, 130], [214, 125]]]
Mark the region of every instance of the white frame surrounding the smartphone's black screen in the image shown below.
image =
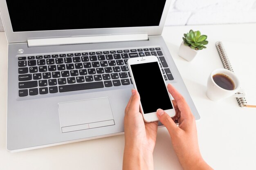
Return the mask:
[[[165, 79], [164, 79], [164, 75], [161, 71], [161, 67], [159, 65], [159, 61], [157, 59], [156, 56], [152, 55], [152, 56], [146, 56], [146, 57], [135, 57], [135, 58], [130, 58], [128, 59], [127, 63], [128, 63], [128, 68], [130, 70], [130, 75], [131, 75], [131, 78], [132, 78], [132, 82], [133, 82], [133, 86], [134, 88], [137, 90], [137, 86], [136, 86], [136, 82], [134, 80], [134, 77], [133, 77], [133, 73], [132, 73], [132, 68], [131, 68], [131, 65], [133, 64], [143, 64], [143, 63], [150, 63], [150, 62], [157, 62], [158, 63], [158, 66], [159, 66], [159, 69], [160, 69], [160, 72], [162, 74], [162, 78], [165, 82]], [[166, 86], [166, 84], [165, 84]], [[173, 102], [172, 102], [172, 99], [171, 99], [171, 95], [170, 93], [168, 92], [168, 88], [166, 86], [166, 91], [168, 93], [168, 96], [170, 97], [170, 101], [171, 101], [171, 105], [173, 106]], [[141, 102], [140, 102], [140, 112], [142, 113], [143, 115], [143, 119], [144, 121], [146, 122], [151, 122], [151, 121], [158, 121], [158, 117], [156, 115], [156, 112], [152, 112], [152, 113], [146, 113], [144, 114], [144, 111], [143, 111], [143, 108], [141, 106]], [[170, 117], [174, 117], [175, 116], [175, 109], [174, 109], [174, 106], [172, 109], [168, 109], [168, 110], [164, 110]]]

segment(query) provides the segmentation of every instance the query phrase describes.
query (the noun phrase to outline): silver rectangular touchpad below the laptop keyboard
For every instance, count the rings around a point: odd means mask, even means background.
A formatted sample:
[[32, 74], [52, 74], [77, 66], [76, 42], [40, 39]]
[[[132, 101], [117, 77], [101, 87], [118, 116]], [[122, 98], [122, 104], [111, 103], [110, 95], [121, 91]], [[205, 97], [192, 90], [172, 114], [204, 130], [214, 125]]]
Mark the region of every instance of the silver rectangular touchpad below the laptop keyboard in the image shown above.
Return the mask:
[[63, 133], [115, 125], [108, 97], [59, 103], [58, 112]]

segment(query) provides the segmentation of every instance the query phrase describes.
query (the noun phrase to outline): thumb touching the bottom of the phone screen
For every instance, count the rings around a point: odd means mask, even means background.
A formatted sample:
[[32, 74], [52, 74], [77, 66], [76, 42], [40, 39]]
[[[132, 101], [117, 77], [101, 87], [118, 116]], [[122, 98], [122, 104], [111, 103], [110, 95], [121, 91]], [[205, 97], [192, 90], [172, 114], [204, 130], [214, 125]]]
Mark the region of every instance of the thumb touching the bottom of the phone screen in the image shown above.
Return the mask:
[[157, 109], [157, 117], [159, 121], [167, 128], [170, 135], [172, 135], [178, 128], [173, 119], [161, 108]]

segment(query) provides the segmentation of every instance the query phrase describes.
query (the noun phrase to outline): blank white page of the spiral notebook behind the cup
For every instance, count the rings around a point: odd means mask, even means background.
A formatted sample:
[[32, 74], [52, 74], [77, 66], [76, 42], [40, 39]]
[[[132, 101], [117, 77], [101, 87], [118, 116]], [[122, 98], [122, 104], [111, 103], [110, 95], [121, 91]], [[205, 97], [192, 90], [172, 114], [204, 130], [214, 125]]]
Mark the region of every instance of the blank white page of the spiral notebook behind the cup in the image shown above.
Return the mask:
[[256, 105], [256, 44], [222, 41], [234, 73], [246, 92], [248, 105]]

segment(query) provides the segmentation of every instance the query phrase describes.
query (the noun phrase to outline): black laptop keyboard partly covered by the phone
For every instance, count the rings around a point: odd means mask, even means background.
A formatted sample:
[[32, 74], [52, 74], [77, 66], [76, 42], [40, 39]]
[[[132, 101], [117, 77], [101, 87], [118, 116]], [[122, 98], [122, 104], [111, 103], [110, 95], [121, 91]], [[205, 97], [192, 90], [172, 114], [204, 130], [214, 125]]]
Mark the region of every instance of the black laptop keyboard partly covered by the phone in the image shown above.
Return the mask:
[[127, 60], [158, 57], [165, 80], [173, 80], [160, 48], [118, 49], [18, 57], [19, 96], [132, 84]]

